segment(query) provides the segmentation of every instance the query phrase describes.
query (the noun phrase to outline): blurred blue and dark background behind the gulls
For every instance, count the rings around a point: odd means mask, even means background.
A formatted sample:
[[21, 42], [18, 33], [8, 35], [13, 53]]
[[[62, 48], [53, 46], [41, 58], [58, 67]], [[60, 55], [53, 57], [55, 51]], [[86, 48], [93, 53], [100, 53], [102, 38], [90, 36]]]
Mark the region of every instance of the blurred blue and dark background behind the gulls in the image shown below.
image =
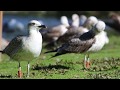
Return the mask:
[[120, 31], [118, 18], [120, 11], [4, 11], [2, 37], [9, 42], [16, 35], [27, 34], [27, 24], [33, 19], [39, 20], [47, 27], [53, 27], [60, 24], [61, 16], [67, 16], [71, 22], [71, 16], [75, 13], [79, 16], [95, 16], [105, 21], [106, 29]]

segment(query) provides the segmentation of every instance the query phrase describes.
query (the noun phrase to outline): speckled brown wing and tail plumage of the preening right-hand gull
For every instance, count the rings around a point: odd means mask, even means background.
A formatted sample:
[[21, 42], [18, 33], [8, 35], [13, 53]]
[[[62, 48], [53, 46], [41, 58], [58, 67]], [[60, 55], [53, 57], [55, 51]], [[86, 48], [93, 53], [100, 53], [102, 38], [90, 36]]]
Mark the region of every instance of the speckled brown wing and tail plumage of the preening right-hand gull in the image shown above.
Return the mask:
[[[90, 30], [78, 38], [70, 39], [68, 42], [62, 44], [61, 47], [56, 50], [48, 51], [57, 52], [55, 56], [66, 54], [66, 53], [83, 53], [86, 52], [95, 43], [95, 33]], [[53, 57], [55, 57], [53, 56]]]

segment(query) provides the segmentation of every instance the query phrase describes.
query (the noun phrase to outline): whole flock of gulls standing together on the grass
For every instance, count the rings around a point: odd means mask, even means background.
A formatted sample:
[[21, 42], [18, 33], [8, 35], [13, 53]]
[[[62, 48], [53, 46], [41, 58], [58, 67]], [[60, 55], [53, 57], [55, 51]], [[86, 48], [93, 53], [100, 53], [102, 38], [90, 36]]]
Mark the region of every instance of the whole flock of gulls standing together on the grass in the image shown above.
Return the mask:
[[28, 61], [29, 77], [30, 61], [39, 57], [43, 42], [47, 43], [45, 47], [54, 47], [44, 53], [47, 55], [56, 52], [52, 57], [67, 53], [83, 53], [83, 64], [86, 69], [90, 68], [90, 53], [101, 50], [109, 43], [105, 22], [95, 16], [73, 14], [71, 22], [66, 16], [61, 16], [60, 21], [60, 25], [49, 28], [38, 20], [31, 20], [28, 23], [28, 35], [16, 36], [0, 51], [18, 61], [18, 77], [22, 77], [21, 61]]

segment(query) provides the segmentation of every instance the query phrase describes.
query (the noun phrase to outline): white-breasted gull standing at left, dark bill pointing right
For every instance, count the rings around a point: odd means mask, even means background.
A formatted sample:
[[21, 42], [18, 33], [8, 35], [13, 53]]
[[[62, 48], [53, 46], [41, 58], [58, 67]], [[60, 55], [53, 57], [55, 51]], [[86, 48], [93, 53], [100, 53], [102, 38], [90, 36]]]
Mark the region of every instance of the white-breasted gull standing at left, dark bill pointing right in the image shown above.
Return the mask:
[[19, 62], [18, 77], [22, 77], [20, 61], [28, 61], [27, 65], [27, 77], [29, 77], [29, 62], [39, 57], [42, 50], [42, 35], [39, 32], [40, 29], [46, 28], [45, 25], [41, 25], [37, 20], [31, 20], [28, 23], [28, 35], [18, 35], [11, 40], [6, 48], [0, 51], [3, 54], [7, 54], [11, 59]]

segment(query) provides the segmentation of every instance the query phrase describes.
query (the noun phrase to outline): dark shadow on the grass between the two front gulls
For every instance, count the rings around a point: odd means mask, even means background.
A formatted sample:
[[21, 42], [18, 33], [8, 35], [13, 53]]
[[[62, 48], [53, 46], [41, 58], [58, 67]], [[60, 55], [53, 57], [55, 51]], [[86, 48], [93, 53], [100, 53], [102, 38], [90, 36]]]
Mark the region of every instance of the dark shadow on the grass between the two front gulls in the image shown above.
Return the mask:
[[69, 69], [70, 67], [63, 66], [63, 65], [49, 65], [49, 66], [34, 66], [32, 70], [50, 70], [50, 69]]

